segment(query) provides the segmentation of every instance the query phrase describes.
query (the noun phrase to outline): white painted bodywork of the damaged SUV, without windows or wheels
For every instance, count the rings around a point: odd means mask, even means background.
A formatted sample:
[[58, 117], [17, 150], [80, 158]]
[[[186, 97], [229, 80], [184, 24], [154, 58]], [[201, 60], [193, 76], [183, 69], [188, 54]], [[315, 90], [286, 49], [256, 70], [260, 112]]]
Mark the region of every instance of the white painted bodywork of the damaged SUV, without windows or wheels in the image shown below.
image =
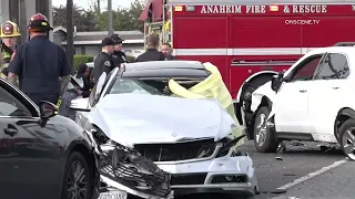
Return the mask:
[[310, 133], [314, 140], [337, 143], [334, 136], [334, 123], [344, 107], [355, 109], [353, 91], [355, 74], [355, 48], [331, 46], [315, 49], [284, 74], [287, 76], [307, 57], [321, 53], [338, 53], [347, 57], [349, 76], [342, 80], [313, 80], [282, 83], [277, 93], [271, 90], [271, 82], [252, 94], [252, 112], [255, 113], [263, 96], [273, 102], [268, 119], [275, 116], [275, 129], [283, 133]]

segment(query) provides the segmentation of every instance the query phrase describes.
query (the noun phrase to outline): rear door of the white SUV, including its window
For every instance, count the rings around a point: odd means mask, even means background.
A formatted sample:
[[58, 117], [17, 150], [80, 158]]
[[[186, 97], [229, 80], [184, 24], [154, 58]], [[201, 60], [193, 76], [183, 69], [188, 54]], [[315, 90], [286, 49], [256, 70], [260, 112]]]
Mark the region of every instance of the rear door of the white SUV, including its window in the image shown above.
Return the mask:
[[317, 140], [334, 142], [334, 122], [343, 107], [343, 92], [349, 75], [348, 57], [344, 53], [329, 52], [320, 65], [308, 98], [308, 119], [314, 124]]

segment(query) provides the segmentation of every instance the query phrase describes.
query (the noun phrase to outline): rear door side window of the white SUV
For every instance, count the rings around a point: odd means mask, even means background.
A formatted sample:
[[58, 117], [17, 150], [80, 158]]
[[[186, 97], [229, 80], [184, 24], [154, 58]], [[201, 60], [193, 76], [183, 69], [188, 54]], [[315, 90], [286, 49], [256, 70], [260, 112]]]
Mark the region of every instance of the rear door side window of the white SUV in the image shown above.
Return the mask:
[[344, 54], [329, 53], [320, 66], [315, 80], [346, 78], [349, 75], [347, 59]]

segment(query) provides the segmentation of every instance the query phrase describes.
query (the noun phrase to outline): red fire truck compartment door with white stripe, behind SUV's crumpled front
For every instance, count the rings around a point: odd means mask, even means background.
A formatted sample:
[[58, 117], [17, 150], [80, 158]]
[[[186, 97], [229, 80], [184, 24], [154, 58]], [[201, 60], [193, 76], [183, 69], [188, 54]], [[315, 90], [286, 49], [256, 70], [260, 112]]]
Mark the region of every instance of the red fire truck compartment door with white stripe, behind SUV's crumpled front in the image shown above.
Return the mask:
[[[302, 25], [290, 25], [287, 20], [302, 15], [235, 15], [232, 18], [231, 91], [239, 91], [243, 82], [261, 71], [287, 69], [290, 61], [302, 54]], [[270, 63], [273, 61], [273, 63]]]

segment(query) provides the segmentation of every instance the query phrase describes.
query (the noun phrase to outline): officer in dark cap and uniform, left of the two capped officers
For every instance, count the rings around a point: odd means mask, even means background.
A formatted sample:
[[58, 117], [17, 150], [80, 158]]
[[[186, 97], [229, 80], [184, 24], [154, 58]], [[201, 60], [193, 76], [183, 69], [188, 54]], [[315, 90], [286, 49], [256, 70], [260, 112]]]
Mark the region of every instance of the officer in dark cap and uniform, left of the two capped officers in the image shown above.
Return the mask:
[[115, 42], [111, 38], [105, 38], [101, 41], [101, 53], [98, 55], [98, 57], [94, 61], [94, 82], [97, 83], [99, 81], [99, 77], [103, 72], [109, 74], [113, 67], [114, 64], [111, 59], [111, 54], [113, 53]]

